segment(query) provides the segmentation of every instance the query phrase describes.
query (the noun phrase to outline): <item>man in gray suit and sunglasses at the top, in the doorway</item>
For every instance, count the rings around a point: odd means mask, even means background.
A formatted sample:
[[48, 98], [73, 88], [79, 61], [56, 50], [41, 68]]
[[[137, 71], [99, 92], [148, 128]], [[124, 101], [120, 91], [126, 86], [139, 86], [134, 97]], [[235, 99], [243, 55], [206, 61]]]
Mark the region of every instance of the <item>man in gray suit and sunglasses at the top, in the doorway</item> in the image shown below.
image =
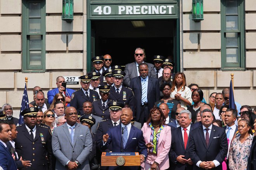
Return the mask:
[[[138, 65], [140, 63], [144, 63], [144, 57], [145, 57], [144, 49], [136, 48], [135, 54], [134, 54], [135, 62], [125, 65], [125, 77], [124, 77], [125, 87], [130, 87], [131, 79], [140, 75], [140, 73], [138, 72]], [[154, 65], [150, 63], [147, 63], [147, 65], [149, 66], [148, 76], [156, 78], [156, 71], [154, 69]]]

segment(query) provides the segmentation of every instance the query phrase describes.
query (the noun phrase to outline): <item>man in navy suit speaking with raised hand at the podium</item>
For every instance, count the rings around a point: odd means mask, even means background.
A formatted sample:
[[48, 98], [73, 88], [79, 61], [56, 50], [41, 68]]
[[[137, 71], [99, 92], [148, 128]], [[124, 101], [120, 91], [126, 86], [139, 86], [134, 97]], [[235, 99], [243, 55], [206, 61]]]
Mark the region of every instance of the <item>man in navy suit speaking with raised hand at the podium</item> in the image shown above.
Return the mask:
[[[111, 107], [118, 107], [119, 102], [113, 102]], [[147, 156], [147, 147], [145, 145], [143, 133], [140, 129], [131, 125], [133, 113], [130, 108], [122, 110], [121, 124], [110, 128], [107, 134], [103, 135], [102, 150], [113, 142], [112, 152], [135, 152], [136, 147], [140, 153], [140, 163], [144, 162]], [[123, 130], [122, 130], [123, 129]], [[122, 134], [123, 133], [123, 134]], [[122, 145], [122, 147], [121, 147]], [[109, 170], [118, 170], [120, 167], [109, 167]], [[123, 167], [124, 170], [135, 170], [135, 167]]]

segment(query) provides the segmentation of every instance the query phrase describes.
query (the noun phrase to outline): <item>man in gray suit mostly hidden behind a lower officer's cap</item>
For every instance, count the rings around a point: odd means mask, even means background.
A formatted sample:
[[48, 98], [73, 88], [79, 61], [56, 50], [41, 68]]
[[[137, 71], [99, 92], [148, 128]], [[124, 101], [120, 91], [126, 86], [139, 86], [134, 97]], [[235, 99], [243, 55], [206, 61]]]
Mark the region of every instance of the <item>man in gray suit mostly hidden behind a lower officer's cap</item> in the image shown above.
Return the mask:
[[[89, 101], [86, 101], [83, 103], [83, 113], [84, 114], [88, 114], [88, 115], [91, 115], [94, 119], [95, 119], [95, 125], [92, 126], [91, 128], [91, 131], [92, 133], [96, 133], [97, 132], [97, 127], [98, 127], [98, 124], [103, 120], [101, 117], [99, 116], [95, 116], [92, 114], [92, 103], [89, 102]], [[80, 119], [81, 120], [81, 119]]]

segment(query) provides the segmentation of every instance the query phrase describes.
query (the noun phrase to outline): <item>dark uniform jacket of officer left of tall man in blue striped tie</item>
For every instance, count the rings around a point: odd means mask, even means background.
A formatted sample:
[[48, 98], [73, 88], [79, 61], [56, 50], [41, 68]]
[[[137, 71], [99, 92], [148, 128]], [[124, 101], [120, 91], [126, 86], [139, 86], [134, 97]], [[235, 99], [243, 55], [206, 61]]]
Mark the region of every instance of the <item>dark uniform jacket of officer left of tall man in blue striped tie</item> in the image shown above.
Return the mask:
[[131, 110], [134, 112], [135, 111], [135, 106], [134, 106], [134, 95], [132, 89], [128, 87], [122, 86], [121, 91], [119, 94], [116, 93], [116, 89], [114, 86], [110, 88], [110, 95], [109, 99], [122, 102], [123, 104], [128, 104], [131, 107]]

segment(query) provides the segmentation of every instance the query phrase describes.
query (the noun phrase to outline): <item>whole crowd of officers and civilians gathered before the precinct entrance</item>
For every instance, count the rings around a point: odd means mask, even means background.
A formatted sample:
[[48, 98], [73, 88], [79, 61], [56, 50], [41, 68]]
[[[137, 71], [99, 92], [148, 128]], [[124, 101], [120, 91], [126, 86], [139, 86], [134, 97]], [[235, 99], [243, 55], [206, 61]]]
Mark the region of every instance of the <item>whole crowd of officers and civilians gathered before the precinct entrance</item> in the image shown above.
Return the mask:
[[[230, 108], [229, 88], [207, 103], [171, 59], [146, 63], [141, 48], [134, 58], [123, 71], [109, 54], [93, 57], [76, 91], [63, 76], [47, 98], [34, 87], [24, 124], [4, 104], [0, 170], [256, 169], [256, 109]], [[103, 152], [138, 152], [140, 166], [104, 166]]]

